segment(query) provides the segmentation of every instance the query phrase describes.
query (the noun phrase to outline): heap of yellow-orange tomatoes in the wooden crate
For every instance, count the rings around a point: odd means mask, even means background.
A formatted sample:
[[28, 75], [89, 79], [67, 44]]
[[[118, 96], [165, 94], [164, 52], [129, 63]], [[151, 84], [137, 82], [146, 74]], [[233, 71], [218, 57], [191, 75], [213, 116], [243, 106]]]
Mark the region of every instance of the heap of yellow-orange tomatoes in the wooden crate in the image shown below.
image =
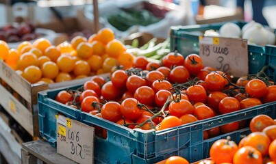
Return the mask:
[[33, 43], [21, 42], [17, 49], [9, 49], [5, 41], [0, 41], [0, 52], [1, 59], [29, 83], [80, 79], [110, 72], [117, 64], [129, 68], [134, 60], [110, 29], [101, 29], [88, 39], [75, 36], [71, 42], [58, 46], [40, 38]]

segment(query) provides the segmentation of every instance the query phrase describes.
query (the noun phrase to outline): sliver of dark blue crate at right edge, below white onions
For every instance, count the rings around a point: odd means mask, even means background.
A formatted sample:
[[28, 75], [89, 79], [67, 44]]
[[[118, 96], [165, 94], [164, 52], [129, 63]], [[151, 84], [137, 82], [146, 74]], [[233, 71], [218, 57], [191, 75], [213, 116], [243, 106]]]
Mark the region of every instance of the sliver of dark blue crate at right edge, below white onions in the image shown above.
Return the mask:
[[265, 50], [268, 65], [267, 75], [273, 81], [276, 81], [276, 46], [267, 45]]

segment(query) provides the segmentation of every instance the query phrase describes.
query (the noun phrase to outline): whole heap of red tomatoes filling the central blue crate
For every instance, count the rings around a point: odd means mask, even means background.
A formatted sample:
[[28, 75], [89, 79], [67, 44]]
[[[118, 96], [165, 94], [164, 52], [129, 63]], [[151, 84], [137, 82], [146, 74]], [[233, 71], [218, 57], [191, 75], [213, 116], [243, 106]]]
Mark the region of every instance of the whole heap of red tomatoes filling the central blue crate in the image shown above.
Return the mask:
[[[56, 100], [129, 128], [157, 131], [276, 100], [276, 85], [260, 78], [239, 85], [228, 74], [204, 67], [199, 55], [175, 52], [161, 64], [136, 57], [133, 68], [118, 66], [110, 81], [94, 76], [80, 90], [60, 92]], [[233, 122], [210, 129], [204, 138], [239, 126]]]

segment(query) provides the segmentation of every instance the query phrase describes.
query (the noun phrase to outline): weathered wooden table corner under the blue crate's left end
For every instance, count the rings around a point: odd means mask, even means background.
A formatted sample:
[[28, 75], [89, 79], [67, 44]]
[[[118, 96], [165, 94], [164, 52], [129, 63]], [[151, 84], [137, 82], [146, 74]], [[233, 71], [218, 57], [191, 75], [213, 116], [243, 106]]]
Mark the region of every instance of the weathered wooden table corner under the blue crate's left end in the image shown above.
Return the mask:
[[57, 149], [53, 148], [47, 141], [29, 141], [22, 143], [21, 159], [23, 164], [38, 163], [66, 163], [75, 164], [71, 159], [58, 154]]

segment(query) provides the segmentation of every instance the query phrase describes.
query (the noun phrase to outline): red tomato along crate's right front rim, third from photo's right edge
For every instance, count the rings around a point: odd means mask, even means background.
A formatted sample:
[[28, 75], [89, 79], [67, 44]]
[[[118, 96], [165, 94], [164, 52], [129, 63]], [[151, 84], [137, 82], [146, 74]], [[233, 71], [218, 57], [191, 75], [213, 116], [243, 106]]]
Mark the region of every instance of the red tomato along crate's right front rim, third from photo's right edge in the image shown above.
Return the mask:
[[218, 110], [221, 114], [231, 113], [240, 110], [240, 102], [236, 98], [226, 97], [218, 104]]

